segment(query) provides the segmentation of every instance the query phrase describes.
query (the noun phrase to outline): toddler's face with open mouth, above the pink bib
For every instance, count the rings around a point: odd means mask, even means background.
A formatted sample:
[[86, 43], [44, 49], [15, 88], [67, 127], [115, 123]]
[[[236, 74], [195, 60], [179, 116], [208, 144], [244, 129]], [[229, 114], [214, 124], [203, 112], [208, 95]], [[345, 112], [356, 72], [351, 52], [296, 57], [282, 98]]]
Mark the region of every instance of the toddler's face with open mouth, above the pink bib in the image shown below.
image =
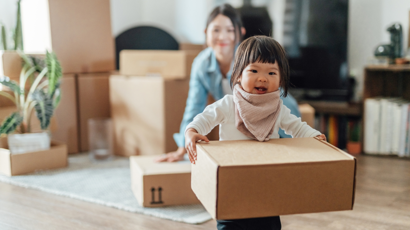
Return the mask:
[[278, 62], [251, 63], [244, 68], [238, 82], [241, 83], [242, 89], [251, 94], [275, 92], [280, 86]]

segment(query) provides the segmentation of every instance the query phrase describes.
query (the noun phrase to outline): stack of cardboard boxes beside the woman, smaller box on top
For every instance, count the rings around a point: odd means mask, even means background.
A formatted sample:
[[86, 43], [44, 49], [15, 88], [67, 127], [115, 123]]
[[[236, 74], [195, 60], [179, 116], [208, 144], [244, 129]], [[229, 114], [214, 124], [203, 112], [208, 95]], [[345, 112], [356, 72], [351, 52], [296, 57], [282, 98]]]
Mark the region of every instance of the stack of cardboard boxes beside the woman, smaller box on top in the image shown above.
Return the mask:
[[155, 155], [175, 151], [199, 50], [122, 50], [120, 74], [109, 80], [115, 153]]

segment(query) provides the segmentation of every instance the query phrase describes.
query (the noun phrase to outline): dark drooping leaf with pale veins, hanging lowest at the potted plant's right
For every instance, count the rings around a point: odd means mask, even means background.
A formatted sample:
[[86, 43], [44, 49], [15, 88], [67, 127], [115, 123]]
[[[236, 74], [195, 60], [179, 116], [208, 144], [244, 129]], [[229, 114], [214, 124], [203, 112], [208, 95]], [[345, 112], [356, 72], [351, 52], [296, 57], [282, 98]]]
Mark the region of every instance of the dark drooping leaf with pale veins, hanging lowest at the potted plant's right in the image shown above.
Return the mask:
[[41, 129], [47, 129], [54, 112], [53, 99], [43, 90], [34, 91], [32, 99], [36, 102], [34, 108], [36, 110], [37, 118], [40, 120]]

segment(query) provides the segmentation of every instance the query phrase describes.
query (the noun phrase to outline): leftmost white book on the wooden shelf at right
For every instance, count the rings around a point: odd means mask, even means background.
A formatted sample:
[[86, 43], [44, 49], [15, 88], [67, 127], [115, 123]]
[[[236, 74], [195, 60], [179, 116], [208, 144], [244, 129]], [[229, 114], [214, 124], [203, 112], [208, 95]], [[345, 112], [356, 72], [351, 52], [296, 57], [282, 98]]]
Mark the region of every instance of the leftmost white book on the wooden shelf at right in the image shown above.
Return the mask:
[[379, 153], [380, 144], [380, 98], [368, 98], [364, 101], [364, 144], [363, 151], [369, 154]]

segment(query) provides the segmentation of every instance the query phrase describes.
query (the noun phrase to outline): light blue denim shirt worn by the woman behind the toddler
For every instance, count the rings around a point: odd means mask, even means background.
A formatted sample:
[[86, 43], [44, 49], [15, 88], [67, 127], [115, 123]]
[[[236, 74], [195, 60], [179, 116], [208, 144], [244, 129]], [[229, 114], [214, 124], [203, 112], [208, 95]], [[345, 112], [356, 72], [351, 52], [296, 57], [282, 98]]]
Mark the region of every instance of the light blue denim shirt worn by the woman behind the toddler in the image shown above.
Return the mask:
[[[233, 63], [232, 63], [233, 65]], [[226, 74], [228, 82], [232, 75], [232, 65], [229, 72]], [[208, 94], [217, 101], [222, 99], [225, 95], [222, 90], [222, 73], [219, 68], [218, 61], [216, 61], [214, 50], [207, 47], [201, 51], [194, 59], [191, 68], [191, 79], [189, 80], [189, 91], [187, 98], [187, 105], [185, 106], [184, 117], [182, 118], [180, 132], [174, 133], [173, 138], [178, 147], [185, 147], [185, 128], [194, 120], [194, 117], [202, 113], [207, 105]], [[290, 109], [290, 113], [300, 117], [298, 110], [298, 103], [289, 94], [287, 97], [280, 97], [283, 104]], [[279, 130], [281, 138], [292, 138], [291, 135], [285, 134], [283, 130]]]

